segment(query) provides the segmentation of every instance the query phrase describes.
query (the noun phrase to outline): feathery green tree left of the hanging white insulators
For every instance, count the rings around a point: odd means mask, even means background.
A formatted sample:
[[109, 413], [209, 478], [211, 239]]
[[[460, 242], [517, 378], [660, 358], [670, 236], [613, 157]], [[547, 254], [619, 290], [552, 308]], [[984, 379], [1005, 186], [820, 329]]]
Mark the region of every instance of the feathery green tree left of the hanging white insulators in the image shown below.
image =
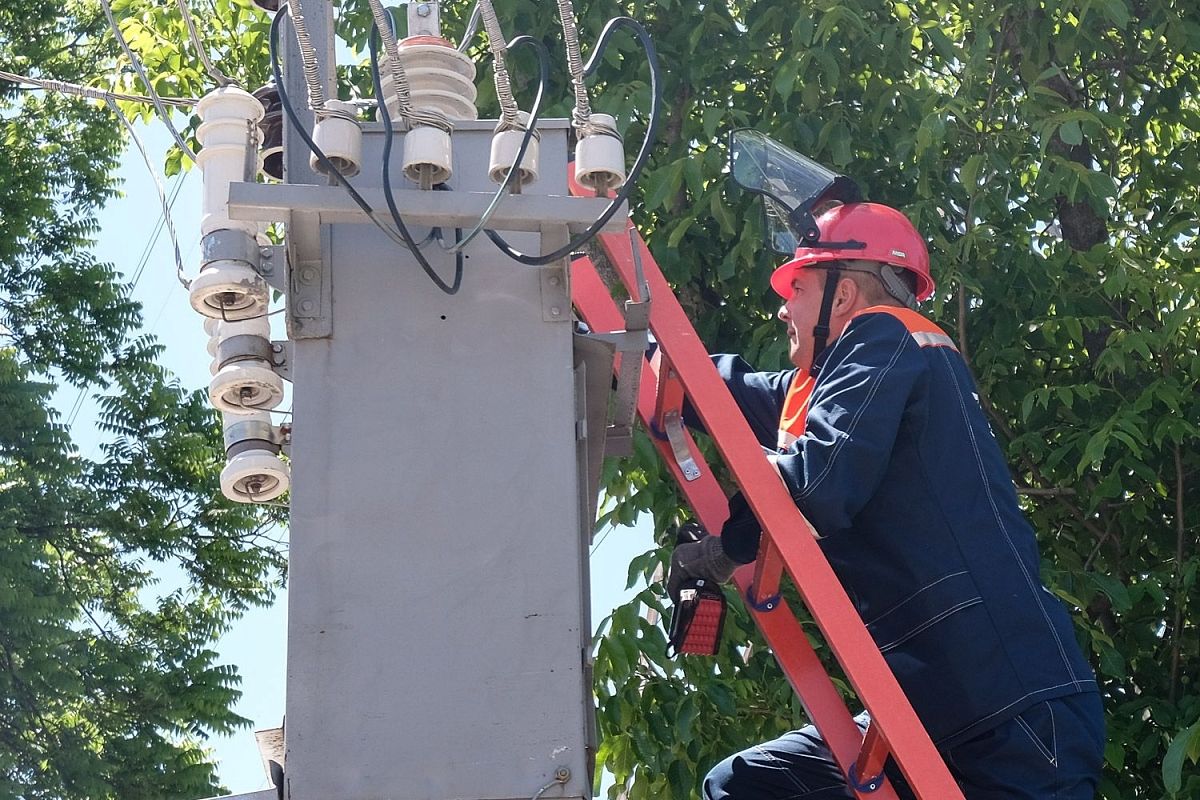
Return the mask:
[[[106, 70], [103, 18], [76, 11], [6, 2], [0, 61]], [[204, 738], [247, 723], [212, 644], [280, 585], [270, 516], [220, 498], [215, 414], [156, 363], [128, 285], [89, 253], [118, 191], [116, 119], [8, 83], [0, 108], [0, 796], [206, 796]], [[55, 385], [100, 397], [98, 457], [72, 445]]]

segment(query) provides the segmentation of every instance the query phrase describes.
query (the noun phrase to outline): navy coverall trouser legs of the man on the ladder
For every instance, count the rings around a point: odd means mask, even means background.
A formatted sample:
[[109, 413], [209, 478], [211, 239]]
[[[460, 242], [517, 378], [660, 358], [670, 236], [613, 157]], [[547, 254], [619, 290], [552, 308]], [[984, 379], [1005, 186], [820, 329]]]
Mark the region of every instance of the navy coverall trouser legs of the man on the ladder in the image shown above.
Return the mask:
[[[856, 717], [865, 728], [869, 717]], [[1026, 709], [943, 751], [966, 800], [1092, 800], [1104, 753], [1099, 696], [1072, 694]], [[893, 765], [894, 766], [894, 765]], [[913, 798], [893, 775], [900, 798]], [[704, 778], [706, 800], [853, 800], [846, 776], [808, 726], [736, 753]]]

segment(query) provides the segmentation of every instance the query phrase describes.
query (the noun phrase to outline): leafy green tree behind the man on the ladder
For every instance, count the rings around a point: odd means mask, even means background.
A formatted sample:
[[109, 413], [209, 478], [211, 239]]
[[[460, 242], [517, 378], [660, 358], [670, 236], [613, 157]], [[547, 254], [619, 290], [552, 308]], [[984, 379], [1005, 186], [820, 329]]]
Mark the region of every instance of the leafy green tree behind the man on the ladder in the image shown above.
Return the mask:
[[[545, 4], [498, 4], [509, 35], [560, 52]], [[265, 74], [264, 18], [218, 0], [204, 36], [242, 78]], [[469, 4], [444, 8], [461, 31]], [[932, 243], [931, 313], [953, 332], [988, 398], [1044, 577], [1078, 612], [1109, 715], [1105, 798], [1196, 796], [1200, 757], [1196, 480], [1200, 324], [1196, 78], [1200, 13], [1176, 0], [804, 0], [576, 4], [584, 42], [630, 13], [665, 65], [666, 119], [635, 219], [710, 350], [782, 366], [751, 199], [722, 176], [725, 137], [754, 126], [853, 175], [906, 210]], [[178, 94], [202, 91], [176, 17], [149, 0], [119, 13]], [[360, 53], [366, 4], [338, 4]], [[472, 50], [481, 55], [479, 46]], [[514, 53], [520, 97], [532, 65]], [[184, 65], [184, 66], [180, 66]], [[365, 73], [341, 92], [370, 96]], [[599, 110], [628, 142], [644, 130], [647, 72], [613, 43]], [[494, 113], [480, 74], [482, 113]], [[547, 115], [570, 92], [556, 70]], [[611, 464], [606, 519], [686, 516], [643, 440]], [[631, 565], [644, 579], [665, 549]], [[642, 578], [638, 578], [642, 576]], [[683, 796], [718, 758], [803, 722], [733, 600], [726, 649], [668, 661], [640, 616], [658, 588], [618, 609], [598, 639], [600, 760], [613, 793]], [[750, 642], [749, 650], [743, 646]], [[1194, 770], [1192, 770], [1194, 771]]]

